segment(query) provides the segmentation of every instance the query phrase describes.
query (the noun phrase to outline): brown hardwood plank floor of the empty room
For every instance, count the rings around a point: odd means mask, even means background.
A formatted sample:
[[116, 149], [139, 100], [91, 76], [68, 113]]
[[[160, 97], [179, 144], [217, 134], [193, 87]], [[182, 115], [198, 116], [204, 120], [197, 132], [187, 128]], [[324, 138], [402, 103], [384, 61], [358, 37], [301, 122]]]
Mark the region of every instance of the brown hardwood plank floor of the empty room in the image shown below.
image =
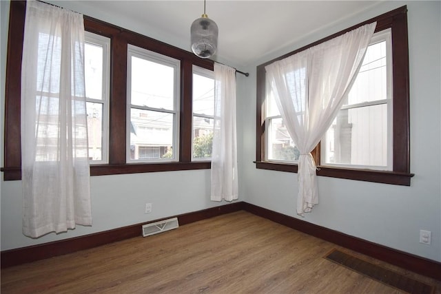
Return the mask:
[[402, 293], [325, 260], [335, 248], [441, 293], [440, 281], [245, 211], [3, 269], [1, 293]]

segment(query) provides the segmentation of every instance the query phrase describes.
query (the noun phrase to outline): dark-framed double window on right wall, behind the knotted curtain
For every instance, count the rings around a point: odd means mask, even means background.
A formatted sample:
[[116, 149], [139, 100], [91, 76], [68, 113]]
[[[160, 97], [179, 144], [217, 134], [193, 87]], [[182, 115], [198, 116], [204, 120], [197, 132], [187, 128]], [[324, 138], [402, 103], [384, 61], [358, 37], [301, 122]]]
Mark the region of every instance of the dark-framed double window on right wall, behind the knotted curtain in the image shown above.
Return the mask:
[[[265, 80], [265, 66], [377, 21], [345, 105], [312, 152], [318, 176], [410, 185], [409, 49], [403, 6], [257, 67], [256, 167], [297, 172], [298, 150]], [[393, 61], [393, 67], [392, 67]], [[380, 132], [379, 132], [380, 130]]]

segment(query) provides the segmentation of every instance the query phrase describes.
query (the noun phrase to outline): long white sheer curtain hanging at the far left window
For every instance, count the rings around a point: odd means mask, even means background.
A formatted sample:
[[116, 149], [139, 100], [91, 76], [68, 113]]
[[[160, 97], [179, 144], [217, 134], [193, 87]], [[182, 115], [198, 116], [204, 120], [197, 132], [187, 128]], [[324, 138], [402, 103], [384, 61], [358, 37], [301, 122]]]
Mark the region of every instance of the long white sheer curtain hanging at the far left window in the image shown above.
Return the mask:
[[28, 1], [21, 72], [23, 234], [91, 225], [83, 15]]

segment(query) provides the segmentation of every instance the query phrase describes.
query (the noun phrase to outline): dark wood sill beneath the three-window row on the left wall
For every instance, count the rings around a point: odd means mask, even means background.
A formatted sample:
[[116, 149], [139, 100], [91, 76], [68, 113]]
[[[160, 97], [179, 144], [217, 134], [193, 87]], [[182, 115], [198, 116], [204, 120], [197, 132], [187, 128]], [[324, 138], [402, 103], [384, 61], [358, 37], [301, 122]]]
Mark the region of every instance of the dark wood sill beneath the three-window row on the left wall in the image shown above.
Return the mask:
[[[158, 171], [187, 171], [192, 169], [210, 169], [209, 161], [167, 162], [167, 163], [132, 163], [125, 165], [91, 165], [90, 176], [109, 176], [116, 174], [140, 174]], [[21, 180], [20, 167], [2, 167], [3, 180]]]

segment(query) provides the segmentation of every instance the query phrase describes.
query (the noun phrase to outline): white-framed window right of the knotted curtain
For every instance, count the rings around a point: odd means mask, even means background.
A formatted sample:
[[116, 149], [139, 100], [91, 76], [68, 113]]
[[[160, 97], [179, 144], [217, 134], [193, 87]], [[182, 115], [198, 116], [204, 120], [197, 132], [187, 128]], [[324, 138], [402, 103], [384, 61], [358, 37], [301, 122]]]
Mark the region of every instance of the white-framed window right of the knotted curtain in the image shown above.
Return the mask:
[[373, 35], [360, 72], [322, 140], [322, 165], [391, 170], [391, 30]]

